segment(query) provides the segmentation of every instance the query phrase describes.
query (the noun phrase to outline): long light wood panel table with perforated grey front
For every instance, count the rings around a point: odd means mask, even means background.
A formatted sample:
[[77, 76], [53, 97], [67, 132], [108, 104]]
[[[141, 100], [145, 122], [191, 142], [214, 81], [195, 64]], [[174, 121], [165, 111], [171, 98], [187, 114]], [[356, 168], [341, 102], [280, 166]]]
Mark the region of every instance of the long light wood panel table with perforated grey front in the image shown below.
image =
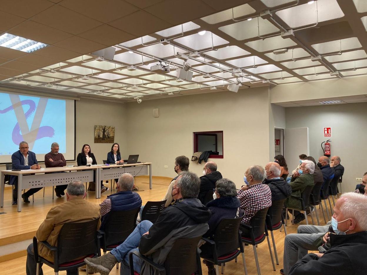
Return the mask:
[[[101, 198], [101, 180], [119, 178], [122, 173], [131, 173], [132, 176], [147, 175], [149, 166], [149, 188], [152, 189], [152, 163], [135, 163], [121, 165], [92, 165], [41, 168], [37, 170], [1, 170], [0, 171], [0, 207], [4, 206], [5, 175], [18, 176], [18, 212], [22, 210], [22, 190], [36, 187], [57, 186], [68, 184], [73, 180], [81, 182], [94, 181], [95, 197]], [[51, 173], [53, 172], [53, 173]], [[56, 173], [55, 173], [56, 172]], [[68, 172], [68, 173], [57, 173]]]

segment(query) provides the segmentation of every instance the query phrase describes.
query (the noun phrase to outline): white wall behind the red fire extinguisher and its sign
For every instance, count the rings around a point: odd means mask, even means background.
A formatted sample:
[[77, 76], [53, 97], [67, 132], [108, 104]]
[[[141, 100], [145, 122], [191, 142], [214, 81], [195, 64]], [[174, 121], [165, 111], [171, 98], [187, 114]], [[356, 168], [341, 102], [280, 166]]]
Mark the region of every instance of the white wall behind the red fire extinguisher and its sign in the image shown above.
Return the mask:
[[[367, 171], [366, 110], [367, 103], [286, 108], [287, 128], [309, 127], [310, 155], [316, 161], [323, 155], [321, 142], [331, 139], [331, 155], [338, 155], [345, 168], [343, 192], [354, 191], [360, 183], [356, 177]], [[331, 138], [323, 136], [323, 127], [331, 127]]]

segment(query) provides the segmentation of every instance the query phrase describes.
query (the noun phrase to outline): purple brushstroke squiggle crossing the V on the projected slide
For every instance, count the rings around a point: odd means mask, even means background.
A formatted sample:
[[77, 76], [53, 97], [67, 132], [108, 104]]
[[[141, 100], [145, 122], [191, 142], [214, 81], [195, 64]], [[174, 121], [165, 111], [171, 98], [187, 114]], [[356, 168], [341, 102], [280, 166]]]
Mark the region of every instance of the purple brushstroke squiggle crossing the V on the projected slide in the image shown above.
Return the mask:
[[[26, 111], [25, 118], [27, 119], [31, 114], [33, 114], [33, 112], [36, 110], [36, 103], [34, 103], [33, 100], [22, 100], [20, 102], [22, 105], [28, 105], [29, 109], [28, 111]], [[4, 110], [0, 110], [0, 114], [5, 114], [8, 111], [13, 110], [14, 107], [13, 106], [9, 106]], [[37, 129], [35, 129], [37, 130]], [[43, 137], [53, 137], [55, 135], [55, 130], [54, 128], [52, 128], [51, 126], [41, 126], [40, 128], [38, 128], [38, 133], [36, 136], [36, 140], [41, 139]], [[15, 124], [13, 132], [12, 132], [12, 140], [14, 142], [14, 144], [19, 144], [21, 141], [23, 141], [23, 136], [21, 134], [21, 129], [19, 126], [19, 122], [17, 122], [17, 124]]]

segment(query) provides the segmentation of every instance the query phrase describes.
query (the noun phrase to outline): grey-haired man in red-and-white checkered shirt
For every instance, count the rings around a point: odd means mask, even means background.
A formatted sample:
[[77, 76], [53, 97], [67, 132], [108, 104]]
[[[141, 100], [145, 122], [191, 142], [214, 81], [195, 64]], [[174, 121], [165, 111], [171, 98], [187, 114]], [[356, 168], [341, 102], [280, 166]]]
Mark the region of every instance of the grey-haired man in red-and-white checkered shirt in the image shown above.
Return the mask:
[[[245, 215], [241, 221], [244, 224], [250, 224], [250, 221], [255, 214], [266, 207], [272, 205], [272, 192], [269, 186], [263, 184], [265, 179], [265, 170], [259, 165], [250, 166], [247, 168], [243, 177], [246, 185], [243, 185], [237, 191], [237, 197], [241, 202], [241, 209]], [[248, 230], [243, 230], [243, 235], [248, 235]]]

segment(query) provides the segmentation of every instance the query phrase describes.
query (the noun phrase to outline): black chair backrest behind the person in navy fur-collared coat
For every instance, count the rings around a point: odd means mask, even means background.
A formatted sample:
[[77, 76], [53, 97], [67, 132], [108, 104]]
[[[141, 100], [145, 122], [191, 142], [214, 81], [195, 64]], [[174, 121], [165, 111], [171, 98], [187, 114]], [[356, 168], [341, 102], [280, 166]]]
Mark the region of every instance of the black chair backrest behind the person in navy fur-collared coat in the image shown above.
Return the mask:
[[238, 231], [242, 217], [223, 218], [215, 230], [214, 241], [217, 247], [218, 257], [229, 254], [237, 250], [242, 242], [239, 241]]

